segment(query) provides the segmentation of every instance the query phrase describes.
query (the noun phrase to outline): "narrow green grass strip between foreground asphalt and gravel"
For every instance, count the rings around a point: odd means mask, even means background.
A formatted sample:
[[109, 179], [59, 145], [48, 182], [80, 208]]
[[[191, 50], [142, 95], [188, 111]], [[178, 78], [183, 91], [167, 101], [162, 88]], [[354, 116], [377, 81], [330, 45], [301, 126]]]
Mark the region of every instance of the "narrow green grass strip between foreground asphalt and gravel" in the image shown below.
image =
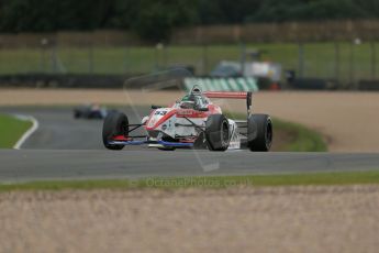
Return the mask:
[[256, 175], [225, 177], [172, 177], [147, 179], [107, 179], [107, 180], [64, 180], [0, 184], [0, 191], [11, 190], [94, 190], [94, 189], [222, 189], [236, 186], [309, 186], [309, 185], [361, 185], [379, 184], [379, 172], [310, 173], [293, 175]]

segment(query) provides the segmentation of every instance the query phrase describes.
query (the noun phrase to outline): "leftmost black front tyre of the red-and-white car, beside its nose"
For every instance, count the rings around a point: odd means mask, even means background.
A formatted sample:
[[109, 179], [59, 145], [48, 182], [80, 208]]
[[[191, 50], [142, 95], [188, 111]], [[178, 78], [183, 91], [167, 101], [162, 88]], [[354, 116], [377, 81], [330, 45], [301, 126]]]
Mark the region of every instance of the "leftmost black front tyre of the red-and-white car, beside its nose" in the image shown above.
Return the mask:
[[108, 150], [120, 151], [124, 145], [109, 144], [115, 135], [127, 136], [129, 133], [129, 120], [127, 117], [122, 112], [109, 113], [102, 127], [102, 142]]

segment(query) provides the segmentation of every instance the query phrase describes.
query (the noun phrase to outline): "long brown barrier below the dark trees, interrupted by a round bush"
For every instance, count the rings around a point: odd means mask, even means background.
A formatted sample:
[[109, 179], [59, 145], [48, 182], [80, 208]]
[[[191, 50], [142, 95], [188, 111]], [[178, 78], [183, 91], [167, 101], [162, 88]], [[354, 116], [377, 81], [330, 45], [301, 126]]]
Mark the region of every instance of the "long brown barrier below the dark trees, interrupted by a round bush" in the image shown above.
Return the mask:
[[[335, 20], [285, 23], [246, 23], [234, 25], [199, 25], [174, 29], [170, 43], [176, 45], [327, 42], [354, 37], [379, 40], [379, 19]], [[0, 47], [37, 47], [48, 40], [59, 46], [123, 46], [149, 43], [132, 31], [94, 30], [88, 32], [0, 34]]]

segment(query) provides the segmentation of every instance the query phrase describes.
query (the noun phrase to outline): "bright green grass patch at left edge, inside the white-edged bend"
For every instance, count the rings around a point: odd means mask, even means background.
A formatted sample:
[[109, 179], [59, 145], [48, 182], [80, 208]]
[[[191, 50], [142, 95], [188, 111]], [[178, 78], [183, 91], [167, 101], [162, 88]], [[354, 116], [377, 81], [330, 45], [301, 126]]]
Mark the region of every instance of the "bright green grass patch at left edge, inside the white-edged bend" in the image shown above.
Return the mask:
[[0, 114], [0, 148], [11, 148], [24, 132], [32, 127], [29, 121]]

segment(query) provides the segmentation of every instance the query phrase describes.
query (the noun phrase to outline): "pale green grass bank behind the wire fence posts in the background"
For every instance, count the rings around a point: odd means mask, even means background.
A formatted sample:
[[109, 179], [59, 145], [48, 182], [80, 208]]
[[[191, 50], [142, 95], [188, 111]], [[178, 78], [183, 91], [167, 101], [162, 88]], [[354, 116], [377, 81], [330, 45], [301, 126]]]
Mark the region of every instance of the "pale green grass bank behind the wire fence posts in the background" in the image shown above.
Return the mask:
[[[350, 43], [339, 43], [339, 68], [336, 72], [334, 43], [310, 43], [304, 45], [304, 76], [335, 78], [348, 81], [350, 77]], [[282, 64], [283, 69], [299, 70], [299, 46], [293, 43], [248, 44], [266, 51], [263, 61]], [[371, 51], [368, 43], [354, 45], [354, 78], [369, 78], [371, 75]], [[56, 69], [60, 73], [96, 74], [142, 74], [156, 70], [159, 66], [188, 64], [197, 74], [208, 74], [222, 59], [239, 61], [242, 47], [234, 45], [211, 45], [207, 54], [202, 46], [168, 46], [165, 51], [155, 47], [93, 47], [56, 50]], [[0, 50], [0, 74], [54, 72], [52, 52], [33, 48]], [[92, 64], [90, 64], [92, 59]], [[376, 66], [379, 74], [379, 64]], [[339, 75], [337, 76], [337, 73]]]

